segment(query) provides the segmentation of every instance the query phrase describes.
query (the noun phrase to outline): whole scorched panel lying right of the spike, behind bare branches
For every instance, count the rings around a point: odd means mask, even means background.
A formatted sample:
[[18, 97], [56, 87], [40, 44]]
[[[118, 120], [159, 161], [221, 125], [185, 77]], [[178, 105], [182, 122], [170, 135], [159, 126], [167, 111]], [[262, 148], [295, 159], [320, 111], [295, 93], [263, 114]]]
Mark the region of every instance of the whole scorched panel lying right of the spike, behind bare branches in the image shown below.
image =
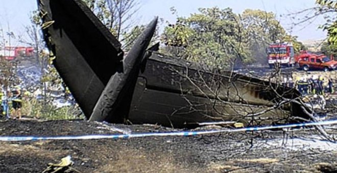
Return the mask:
[[[186, 69], [188, 75], [184, 73]], [[283, 94], [284, 98], [299, 96], [294, 90], [256, 78], [226, 71], [212, 77], [214, 74], [205, 71], [198, 73], [197, 69], [200, 68], [185, 61], [179, 62], [174, 57], [152, 53], [145, 70], [138, 75], [128, 120], [135, 124], [158, 123], [168, 127], [184, 127], [189, 123], [205, 121], [249, 124], [252, 117], [245, 117], [245, 113], [263, 111], [280, 101], [271, 87]], [[216, 84], [216, 87], [209, 89], [203, 86], [204, 83], [192, 84], [185, 76], [193, 81], [213, 80], [221, 83], [221, 87], [215, 89], [219, 86]], [[229, 79], [232, 84], [228, 84]], [[216, 90], [220, 92], [214, 94]], [[282, 108], [260, 114], [254, 119], [261, 124], [285, 123], [291, 114], [291, 106]]]

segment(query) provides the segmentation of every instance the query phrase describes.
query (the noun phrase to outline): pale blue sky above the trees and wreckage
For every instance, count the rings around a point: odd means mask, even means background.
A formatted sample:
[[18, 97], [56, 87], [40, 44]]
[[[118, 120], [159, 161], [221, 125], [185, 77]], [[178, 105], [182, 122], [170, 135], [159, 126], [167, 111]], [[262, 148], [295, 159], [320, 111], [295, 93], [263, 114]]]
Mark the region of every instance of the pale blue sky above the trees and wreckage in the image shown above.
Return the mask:
[[[37, 0], [1, 0], [0, 30], [3, 28], [7, 32], [10, 28], [16, 36], [25, 37], [25, 26], [30, 23], [30, 13], [37, 9], [36, 2]], [[171, 7], [175, 7], [177, 14], [172, 14]], [[292, 21], [284, 17], [290, 13], [316, 7], [315, 0], [139, 0], [139, 10], [132, 17], [135, 24], [146, 24], [155, 16], [174, 23], [177, 15], [188, 17], [191, 13], [197, 13], [198, 8], [210, 7], [221, 9], [229, 7], [235, 13], [242, 13], [245, 9], [274, 12], [286, 31], [298, 36], [300, 41], [326, 37], [326, 32], [318, 28], [319, 24], [324, 23], [323, 17], [315, 19], [311, 24], [296, 25], [293, 29], [291, 29]], [[295, 16], [295, 20], [298, 18], [304, 16]]]

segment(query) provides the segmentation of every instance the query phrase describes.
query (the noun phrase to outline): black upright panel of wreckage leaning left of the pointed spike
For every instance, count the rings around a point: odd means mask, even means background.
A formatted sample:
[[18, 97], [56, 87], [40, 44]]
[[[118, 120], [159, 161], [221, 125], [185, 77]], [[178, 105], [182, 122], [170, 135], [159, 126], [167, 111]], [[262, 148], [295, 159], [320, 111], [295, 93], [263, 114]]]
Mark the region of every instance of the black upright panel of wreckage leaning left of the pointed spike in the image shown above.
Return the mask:
[[87, 118], [123, 58], [121, 44], [81, 0], [39, 0], [54, 65]]

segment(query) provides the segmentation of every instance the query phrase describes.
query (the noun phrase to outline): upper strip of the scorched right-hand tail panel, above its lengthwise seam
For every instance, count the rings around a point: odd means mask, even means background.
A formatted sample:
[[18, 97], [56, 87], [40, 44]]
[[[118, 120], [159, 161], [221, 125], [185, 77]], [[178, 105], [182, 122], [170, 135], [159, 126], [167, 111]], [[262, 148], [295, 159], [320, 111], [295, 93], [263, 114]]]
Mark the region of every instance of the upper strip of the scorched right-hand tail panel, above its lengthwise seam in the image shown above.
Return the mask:
[[223, 101], [270, 106], [279, 101], [276, 93], [284, 95], [287, 91], [285, 98], [299, 96], [290, 88], [277, 86], [257, 78], [227, 71], [211, 73], [181, 60], [179, 63], [174, 63], [172, 59], [174, 58], [170, 56], [153, 53], [148, 60], [146, 70], [139, 74], [147, 79], [147, 88], [191, 93], [194, 96]]

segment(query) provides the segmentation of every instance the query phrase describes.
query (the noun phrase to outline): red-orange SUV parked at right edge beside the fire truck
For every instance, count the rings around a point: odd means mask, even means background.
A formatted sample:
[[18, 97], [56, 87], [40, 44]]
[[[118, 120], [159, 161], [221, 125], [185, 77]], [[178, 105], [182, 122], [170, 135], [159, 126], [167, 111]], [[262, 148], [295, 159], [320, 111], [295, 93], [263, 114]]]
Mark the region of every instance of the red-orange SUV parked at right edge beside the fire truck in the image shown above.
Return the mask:
[[298, 64], [304, 71], [323, 70], [327, 72], [337, 68], [337, 61], [332, 60], [330, 57], [327, 57], [324, 54], [312, 54], [308, 57], [303, 57], [303, 59], [300, 60]]

